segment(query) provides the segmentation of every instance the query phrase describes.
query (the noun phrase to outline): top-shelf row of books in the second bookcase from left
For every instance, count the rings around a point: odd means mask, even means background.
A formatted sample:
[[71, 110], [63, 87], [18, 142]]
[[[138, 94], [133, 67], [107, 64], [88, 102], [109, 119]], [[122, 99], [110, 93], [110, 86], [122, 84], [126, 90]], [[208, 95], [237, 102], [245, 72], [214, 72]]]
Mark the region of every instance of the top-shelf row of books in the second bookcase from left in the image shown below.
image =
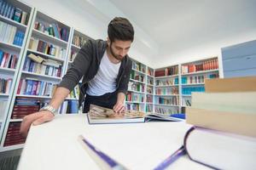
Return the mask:
[[38, 31], [42, 31], [42, 32], [46, 33], [49, 36], [59, 38], [66, 42], [68, 41], [69, 34], [67, 31], [67, 28], [60, 27], [60, 26], [58, 26], [57, 23], [52, 23], [52, 24], [46, 25], [43, 22], [36, 21], [34, 28]]

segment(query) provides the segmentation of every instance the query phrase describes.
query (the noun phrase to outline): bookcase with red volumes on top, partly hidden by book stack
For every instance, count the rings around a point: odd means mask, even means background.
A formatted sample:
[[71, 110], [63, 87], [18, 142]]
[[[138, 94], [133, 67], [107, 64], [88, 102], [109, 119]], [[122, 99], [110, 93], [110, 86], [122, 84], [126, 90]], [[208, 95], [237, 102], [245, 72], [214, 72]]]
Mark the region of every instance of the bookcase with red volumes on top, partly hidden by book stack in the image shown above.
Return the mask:
[[217, 78], [218, 57], [197, 60], [181, 65], [181, 106], [191, 106], [192, 92], [205, 92], [205, 79]]

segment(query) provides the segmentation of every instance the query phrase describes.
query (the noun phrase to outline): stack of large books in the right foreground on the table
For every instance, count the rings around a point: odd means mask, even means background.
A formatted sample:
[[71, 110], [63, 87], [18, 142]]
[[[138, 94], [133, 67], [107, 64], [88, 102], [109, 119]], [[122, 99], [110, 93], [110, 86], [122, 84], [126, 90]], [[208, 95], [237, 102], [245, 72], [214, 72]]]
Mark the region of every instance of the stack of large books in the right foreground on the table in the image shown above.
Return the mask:
[[184, 139], [193, 161], [218, 169], [256, 166], [256, 77], [207, 79], [206, 93], [193, 93]]

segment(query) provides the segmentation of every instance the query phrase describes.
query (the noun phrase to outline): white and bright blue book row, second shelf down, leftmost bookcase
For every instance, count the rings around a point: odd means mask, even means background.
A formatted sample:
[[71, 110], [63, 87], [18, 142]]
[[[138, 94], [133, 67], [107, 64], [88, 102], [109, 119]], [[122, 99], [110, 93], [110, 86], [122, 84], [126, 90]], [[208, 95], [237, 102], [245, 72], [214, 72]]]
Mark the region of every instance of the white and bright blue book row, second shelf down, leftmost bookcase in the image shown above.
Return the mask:
[[22, 46], [25, 33], [0, 20], [0, 42]]

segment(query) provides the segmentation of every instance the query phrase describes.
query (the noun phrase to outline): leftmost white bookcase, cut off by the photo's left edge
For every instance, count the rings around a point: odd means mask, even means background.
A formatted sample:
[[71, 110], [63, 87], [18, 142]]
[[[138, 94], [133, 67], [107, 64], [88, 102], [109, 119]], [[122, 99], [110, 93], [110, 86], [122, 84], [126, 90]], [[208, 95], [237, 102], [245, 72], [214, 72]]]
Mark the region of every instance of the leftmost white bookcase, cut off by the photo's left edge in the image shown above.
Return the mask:
[[5, 140], [9, 144], [12, 137], [24, 141], [17, 135], [15, 122], [9, 122], [9, 106], [20, 74], [34, 8], [13, 0], [2, 1], [0, 4], [0, 151], [3, 151]]

